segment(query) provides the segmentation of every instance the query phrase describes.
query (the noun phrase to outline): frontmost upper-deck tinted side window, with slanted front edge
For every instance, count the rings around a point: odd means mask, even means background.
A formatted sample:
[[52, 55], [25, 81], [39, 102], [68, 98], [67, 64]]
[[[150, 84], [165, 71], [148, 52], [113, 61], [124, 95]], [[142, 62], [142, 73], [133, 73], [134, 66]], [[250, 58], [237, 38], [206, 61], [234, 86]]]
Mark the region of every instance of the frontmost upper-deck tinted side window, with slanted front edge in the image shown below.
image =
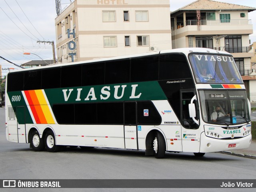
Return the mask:
[[186, 57], [182, 54], [160, 55], [159, 80], [191, 78]]

